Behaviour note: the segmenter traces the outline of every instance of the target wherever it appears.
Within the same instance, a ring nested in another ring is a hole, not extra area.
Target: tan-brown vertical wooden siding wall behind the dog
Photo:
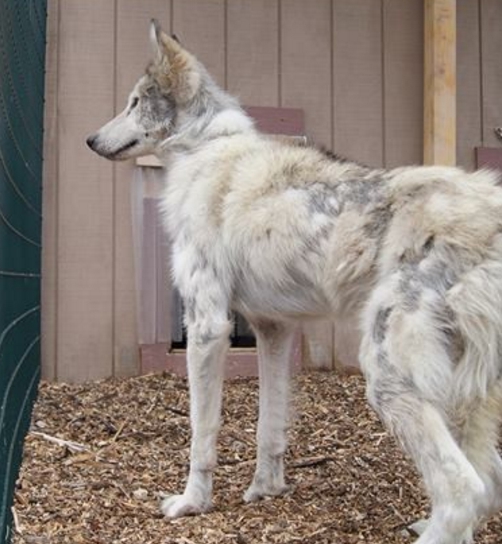
[[[489,70],[485,63],[502,50],[501,7],[499,0],[459,0],[459,39],[466,39],[459,51],[459,157],[467,165],[500,113],[493,111],[500,63]],[[370,165],[422,160],[422,0],[100,0],[92,6],[49,0],[42,348],[48,379],[82,381],[138,368],[134,165],[100,159],[86,149],[85,137],[122,109],[142,73],[151,17],[242,103],[301,108],[309,136]],[[354,362],[354,327],[309,325],[311,362],[331,367],[335,346],[337,358]]]

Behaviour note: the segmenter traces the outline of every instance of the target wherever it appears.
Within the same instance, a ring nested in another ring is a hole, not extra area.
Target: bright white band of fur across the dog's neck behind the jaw
[[[218,138],[254,133],[253,120],[241,109],[225,109],[203,125],[199,120],[181,125],[181,129],[159,146],[159,158],[171,152],[189,152]]]

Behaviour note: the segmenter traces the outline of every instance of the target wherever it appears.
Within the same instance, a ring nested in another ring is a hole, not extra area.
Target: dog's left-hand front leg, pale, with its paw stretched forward
[[[190,387],[192,444],[190,472],[182,495],[162,503],[170,518],[197,514],[211,507],[212,472],[216,465],[216,439],[220,426],[225,354],[231,330],[226,309],[197,312],[187,317],[187,366]]]

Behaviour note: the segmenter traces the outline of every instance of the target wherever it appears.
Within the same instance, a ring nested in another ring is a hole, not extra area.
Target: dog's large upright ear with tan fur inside
[[[195,57],[184,49],[178,38],[168,36],[156,19],[150,25],[150,43],[154,62],[151,72],[164,88],[169,88],[184,102],[197,91],[200,74]]]

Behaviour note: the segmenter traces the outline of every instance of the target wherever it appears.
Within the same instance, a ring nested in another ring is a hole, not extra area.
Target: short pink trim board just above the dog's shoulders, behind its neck
[[[255,120],[258,130],[265,134],[286,136],[303,136],[305,134],[303,110],[265,106],[246,106],[244,109]]]

